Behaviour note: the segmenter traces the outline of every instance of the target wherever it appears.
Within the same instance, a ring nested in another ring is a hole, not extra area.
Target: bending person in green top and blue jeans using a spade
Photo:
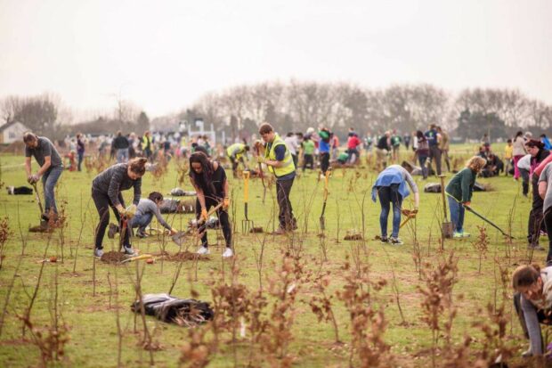
[[[451,221],[455,226],[453,238],[466,238],[469,233],[464,231],[464,215],[469,206],[474,192],[475,178],[481,172],[487,160],[479,156],[474,156],[467,160],[466,168],[461,169],[451,181],[447,184],[445,192],[448,196],[449,210],[451,211]]]

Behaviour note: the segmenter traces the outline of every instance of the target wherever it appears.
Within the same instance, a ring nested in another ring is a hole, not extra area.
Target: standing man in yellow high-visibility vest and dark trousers
[[[297,228],[296,218],[293,216],[289,192],[296,177],[296,166],[293,163],[291,152],[280,135],[274,132],[272,126],[264,123],[259,127],[259,134],[264,141],[264,154],[257,157],[259,163],[264,163],[269,171],[276,176],[276,198],[280,213],[280,227],[277,234],[283,234]],[[259,142],[259,144],[261,144]],[[262,152],[262,151],[261,151]]]

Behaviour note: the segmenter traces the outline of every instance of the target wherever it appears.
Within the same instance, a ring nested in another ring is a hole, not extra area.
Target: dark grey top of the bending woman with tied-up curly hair
[[[127,169],[128,164],[116,164],[106,168],[94,177],[92,190],[107,194],[113,206],[117,206],[120,203],[120,198],[122,198],[119,193],[134,186],[133,203],[137,206],[142,196],[142,178],[131,179],[128,176]],[[124,205],[124,203],[121,203],[121,205]]]

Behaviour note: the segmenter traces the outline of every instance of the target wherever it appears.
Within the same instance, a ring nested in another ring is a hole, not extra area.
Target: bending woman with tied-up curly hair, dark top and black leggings
[[[131,159],[127,163],[121,163],[106,168],[98,176],[94,177],[92,182],[92,199],[98,210],[100,222],[96,227],[96,238],[94,247],[94,256],[103,255],[103,236],[105,229],[110,223],[110,208],[113,210],[118,220],[118,226],[123,228],[123,221],[126,220],[127,211],[125,209],[125,200],[121,191],[134,188],[134,207],[140,202],[142,196],[142,176],[146,172],[146,162],[148,159]],[[129,211],[133,213],[134,209]],[[134,255],[134,249],[130,243],[129,231],[123,232],[123,249],[126,254]]]

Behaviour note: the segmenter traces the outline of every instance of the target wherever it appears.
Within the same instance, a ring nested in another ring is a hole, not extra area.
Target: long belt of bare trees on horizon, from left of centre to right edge
[[[516,130],[547,131],[552,109],[518,90],[474,88],[452,94],[428,85],[394,85],[384,89],[348,83],[264,82],[205,94],[178,119],[201,117],[232,133],[254,133],[263,121],[280,133],[324,125],[339,135],[348,127],[361,134],[397,129],[402,133],[429,124],[454,131],[463,139],[507,137]]]

